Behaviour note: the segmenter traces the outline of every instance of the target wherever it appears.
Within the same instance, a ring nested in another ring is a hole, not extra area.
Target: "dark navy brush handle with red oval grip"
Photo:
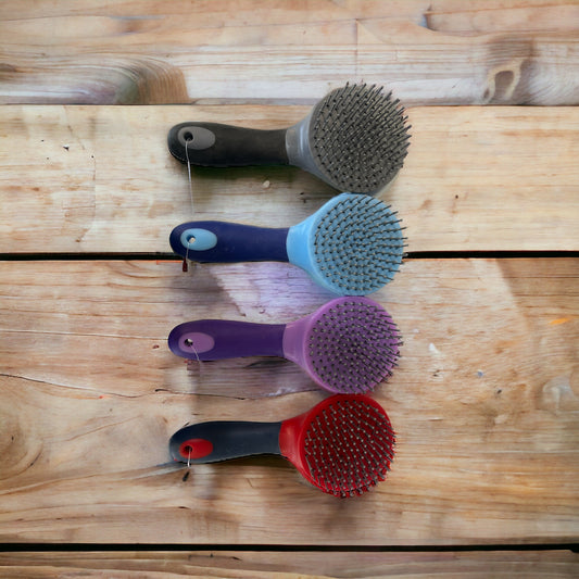
[[[215,420],[186,426],[173,437],[169,451],[181,463],[228,461],[255,454],[280,454],[281,423]]]

